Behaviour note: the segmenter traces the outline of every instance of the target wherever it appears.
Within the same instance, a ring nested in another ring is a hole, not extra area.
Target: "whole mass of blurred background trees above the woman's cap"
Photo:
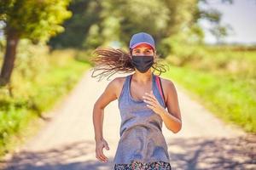
[[[133,33],[148,31],[158,44],[191,26],[196,1],[106,0],[73,1],[73,17],[64,24],[66,31],[50,40],[55,47],[96,48],[119,41],[127,44]]]

